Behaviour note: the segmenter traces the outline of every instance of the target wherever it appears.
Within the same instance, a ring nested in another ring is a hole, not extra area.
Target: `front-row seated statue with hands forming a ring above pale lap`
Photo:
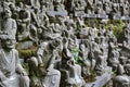
[[[81,87],[84,85],[84,80],[81,76],[80,65],[75,63],[75,60],[68,49],[64,48],[62,53],[62,65],[61,65],[61,86],[62,87],[72,87],[78,86]]]

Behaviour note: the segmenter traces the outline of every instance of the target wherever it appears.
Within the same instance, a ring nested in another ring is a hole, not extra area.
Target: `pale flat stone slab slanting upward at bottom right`
[[[102,76],[96,76],[96,80],[93,83],[88,83],[86,87],[103,87],[106,85],[110,78],[112,78],[112,69],[107,67],[106,73],[104,73]]]

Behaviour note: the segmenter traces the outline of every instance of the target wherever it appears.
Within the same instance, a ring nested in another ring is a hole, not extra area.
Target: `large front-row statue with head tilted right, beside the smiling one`
[[[39,75],[41,87],[60,87],[61,73],[55,70],[55,62],[58,59],[56,50],[57,45],[57,40],[42,42],[41,47],[37,51],[37,58],[30,59],[31,64],[36,64],[35,66],[40,71]],[[34,59],[36,60],[34,61]],[[32,66],[31,64],[30,66]],[[30,70],[32,69],[30,67]],[[32,70],[32,72],[36,70]],[[35,86],[37,86],[37,83]]]

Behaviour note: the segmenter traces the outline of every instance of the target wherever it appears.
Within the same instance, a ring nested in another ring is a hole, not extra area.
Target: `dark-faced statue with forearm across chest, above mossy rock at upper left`
[[[30,12],[24,8],[20,11],[17,21],[17,40],[23,40],[29,36]]]

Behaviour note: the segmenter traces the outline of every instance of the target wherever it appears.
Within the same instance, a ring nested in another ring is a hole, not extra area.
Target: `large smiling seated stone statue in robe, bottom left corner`
[[[1,38],[0,87],[29,87],[27,73],[20,63],[13,37]]]

